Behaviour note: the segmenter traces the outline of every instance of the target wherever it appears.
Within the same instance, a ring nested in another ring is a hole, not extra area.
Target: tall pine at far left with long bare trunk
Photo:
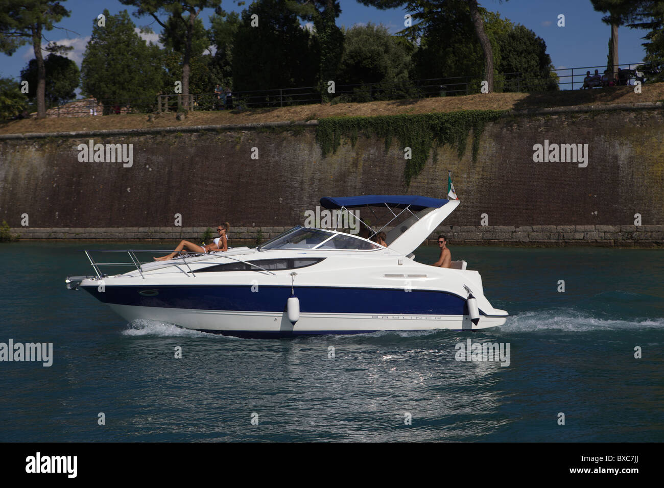
[[[0,51],[11,56],[32,42],[37,62],[37,116],[46,117],[46,68],[41,42],[44,31],[70,12],[52,0],[0,0]]]

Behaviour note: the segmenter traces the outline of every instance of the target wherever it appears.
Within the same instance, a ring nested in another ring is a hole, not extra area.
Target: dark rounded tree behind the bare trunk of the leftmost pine
[[[74,61],[51,53],[44,60],[44,68],[46,68],[46,88],[44,90],[46,108],[76,98],[74,90],[78,88],[80,82],[80,71]],[[31,100],[37,97],[38,78],[37,60],[31,59],[21,70],[21,79],[28,82],[28,98]]]

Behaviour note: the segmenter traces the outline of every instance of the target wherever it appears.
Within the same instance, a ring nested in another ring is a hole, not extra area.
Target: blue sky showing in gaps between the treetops
[[[556,68],[570,68],[582,66],[606,66],[608,40],[611,35],[610,26],[602,22],[602,13],[594,11],[590,0],[480,0],[483,7],[501,14],[513,23],[525,25],[535,31],[546,42],[546,50],[550,54]],[[68,29],[53,29],[46,32],[46,39],[58,41],[74,46],[70,57],[80,66],[80,60],[85,50],[86,42],[92,32],[92,20],[96,19],[104,9],[115,14],[127,9],[129,13],[135,11],[134,7],[126,7],[117,0],[67,0],[62,1],[66,9],[71,11],[71,17],[63,19],[58,27]],[[242,11],[235,2],[224,1],[222,8],[226,11]],[[382,23],[391,32],[399,31],[404,25],[404,9],[380,11],[373,7],[365,7],[355,0],[341,0],[341,16],[337,25],[351,27],[355,24],[372,22]],[[202,19],[208,27],[208,17],[212,10],[203,11]],[[565,16],[565,27],[558,27],[558,15]],[[132,20],[137,27],[151,25],[159,32],[159,25],[151,17],[136,18]],[[646,31],[621,27],[618,32],[619,61],[620,63],[637,63],[643,60],[645,52],[641,37]],[[156,35],[155,35],[156,37]],[[13,54],[6,56],[0,54],[0,75],[19,78],[21,68],[33,58],[32,46],[22,46]],[[602,70],[600,70],[601,72]],[[459,73],[461,75],[462,73]],[[566,74],[566,73],[559,73]],[[575,72],[576,79],[576,72]],[[576,88],[576,86],[575,86]]]

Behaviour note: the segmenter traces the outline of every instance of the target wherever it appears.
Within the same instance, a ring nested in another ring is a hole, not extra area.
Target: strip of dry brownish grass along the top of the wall
[[[288,122],[340,116],[429,114],[459,110],[532,110],[548,107],[633,104],[664,100],[664,83],[644,84],[642,90],[643,93],[635,94],[632,87],[620,86],[535,94],[493,93],[418,100],[389,100],[362,104],[314,104],[283,108],[258,108],[242,112],[238,110],[230,112],[191,112],[183,121],[176,120],[173,112],[160,114],[151,122],[148,121],[146,114],[26,119],[0,123],[0,134]]]

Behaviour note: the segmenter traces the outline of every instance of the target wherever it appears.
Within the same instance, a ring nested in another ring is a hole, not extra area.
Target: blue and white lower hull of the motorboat
[[[291,289],[237,285],[110,285],[84,289],[127,321],[148,319],[242,337],[359,334],[375,331],[476,330],[505,323],[481,313],[473,325],[463,297],[442,290],[299,287],[299,319],[288,319]]]

